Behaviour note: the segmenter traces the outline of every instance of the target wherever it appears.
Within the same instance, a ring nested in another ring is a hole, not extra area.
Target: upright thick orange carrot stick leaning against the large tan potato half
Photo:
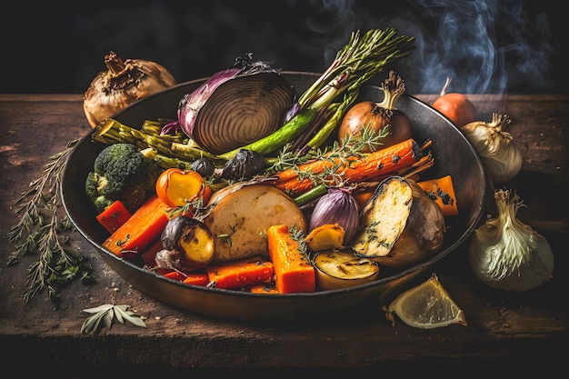
[[[300,251],[300,244],[285,224],[270,226],[266,231],[269,254],[275,265],[276,289],[281,294],[314,292],[314,267]]]

